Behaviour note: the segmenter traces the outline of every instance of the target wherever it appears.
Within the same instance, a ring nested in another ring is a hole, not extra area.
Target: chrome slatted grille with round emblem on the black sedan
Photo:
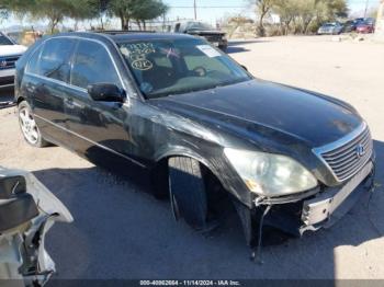
[[[370,129],[365,126],[362,133],[352,139],[337,145],[331,150],[319,153],[339,182],[348,180],[359,172],[370,160],[373,142]]]

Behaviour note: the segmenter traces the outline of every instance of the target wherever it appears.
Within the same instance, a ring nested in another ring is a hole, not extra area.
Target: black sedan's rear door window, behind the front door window
[[[37,74],[55,80],[68,82],[70,70],[70,57],[75,47],[75,41],[70,38],[54,38],[45,43]]]

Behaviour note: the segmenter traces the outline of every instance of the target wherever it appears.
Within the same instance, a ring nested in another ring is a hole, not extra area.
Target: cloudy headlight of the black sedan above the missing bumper
[[[229,148],[224,153],[248,188],[259,195],[286,195],[317,186],[314,175],[289,157]]]

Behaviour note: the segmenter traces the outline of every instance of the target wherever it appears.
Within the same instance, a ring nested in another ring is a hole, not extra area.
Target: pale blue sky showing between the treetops
[[[368,0],[369,7],[376,7],[379,0]],[[193,0],[163,0],[171,8],[167,18],[169,20],[193,19]],[[366,0],[348,0],[348,5],[353,16],[362,16],[365,9]],[[215,24],[217,20],[226,15],[241,14],[255,18],[253,11],[248,4],[248,0],[196,0],[197,19]],[[30,25],[27,21],[20,22],[18,19],[9,19],[0,23],[0,28],[12,25]],[[118,25],[117,21],[114,24]]]

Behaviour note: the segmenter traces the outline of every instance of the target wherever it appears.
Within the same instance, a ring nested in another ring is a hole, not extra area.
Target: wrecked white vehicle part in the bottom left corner
[[[0,180],[24,176],[26,193],[38,208],[38,216],[0,233],[0,279],[7,286],[43,286],[55,272],[55,263],[45,250],[45,234],[55,223],[72,222],[68,209],[32,173],[0,167]]]

